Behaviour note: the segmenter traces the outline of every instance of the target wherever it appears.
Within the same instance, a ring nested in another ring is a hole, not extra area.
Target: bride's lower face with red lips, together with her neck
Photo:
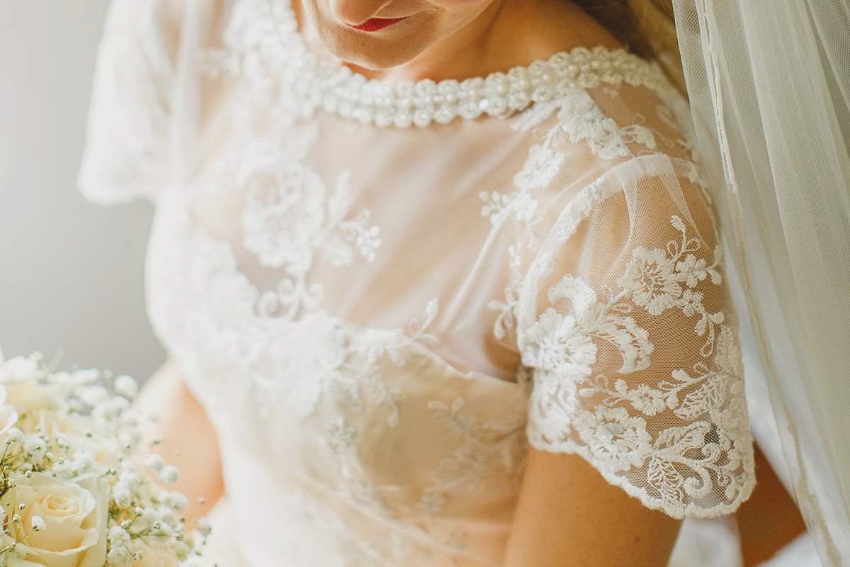
[[[620,46],[565,0],[303,0],[294,7],[314,53],[367,77],[464,79],[580,45]],[[380,31],[345,26],[403,16]]]

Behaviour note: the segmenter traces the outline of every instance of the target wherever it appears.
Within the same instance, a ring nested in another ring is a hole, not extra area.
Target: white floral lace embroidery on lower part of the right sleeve
[[[534,381],[529,436],[537,447],[586,456],[648,506],[679,518],[709,516],[734,509],[753,485],[743,367],[734,329],[694,289],[723,283],[719,249],[709,264],[682,219],[673,215],[671,224],[681,239],[666,250],[637,247],[607,301],[573,275],[549,288],[553,305],[568,299],[571,309],[546,309],[520,333]],[[552,273],[545,258],[539,264],[530,277]],[[694,333],[706,343],[692,368],[657,382],[629,377],[650,368],[655,351],[635,309],[651,317],[677,309],[697,319]],[[601,343],[621,354],[623,377],[595,370]]]

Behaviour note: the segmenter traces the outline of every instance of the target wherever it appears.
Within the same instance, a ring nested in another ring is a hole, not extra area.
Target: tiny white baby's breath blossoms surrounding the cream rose
[[[31,533],[49,534],[58,521],[20,500],[48,490],[45,483],[75,494],[94,490],[83,500],[105,508],[107,525],[98,534],[105,541],[104,567],[131,567],[146,553],[181,561],[199,553],[209,530],[187,525],[185,496],[168,489],[178,469],[156,454],[144,466],[137,458],[145,449],[130,406],[138,384],[110,371],[56,371],[56,365],[40,354],[0,356],[0,565],[8,557],[26,558]],[[94,495],[104,488],[108,496],[100,502]]]

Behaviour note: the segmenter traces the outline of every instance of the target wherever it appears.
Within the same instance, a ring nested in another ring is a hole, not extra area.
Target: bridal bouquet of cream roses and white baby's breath
[[[137,389],[0,354],[0,567],[177,567],[195,553],[186,498],[165,488],[178,470],[133,460]]]

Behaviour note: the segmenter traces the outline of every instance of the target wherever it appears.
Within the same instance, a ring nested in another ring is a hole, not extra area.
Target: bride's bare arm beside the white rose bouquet
[[[180,469],[179,482],[170,488],[189,498],[186,518],[203,516],[224,492],[218,439],[207,412],[186,388],[173,360],[145,384],[136,409],[142,416],[156,416],[150,434],[162,439],[156,452]]]

